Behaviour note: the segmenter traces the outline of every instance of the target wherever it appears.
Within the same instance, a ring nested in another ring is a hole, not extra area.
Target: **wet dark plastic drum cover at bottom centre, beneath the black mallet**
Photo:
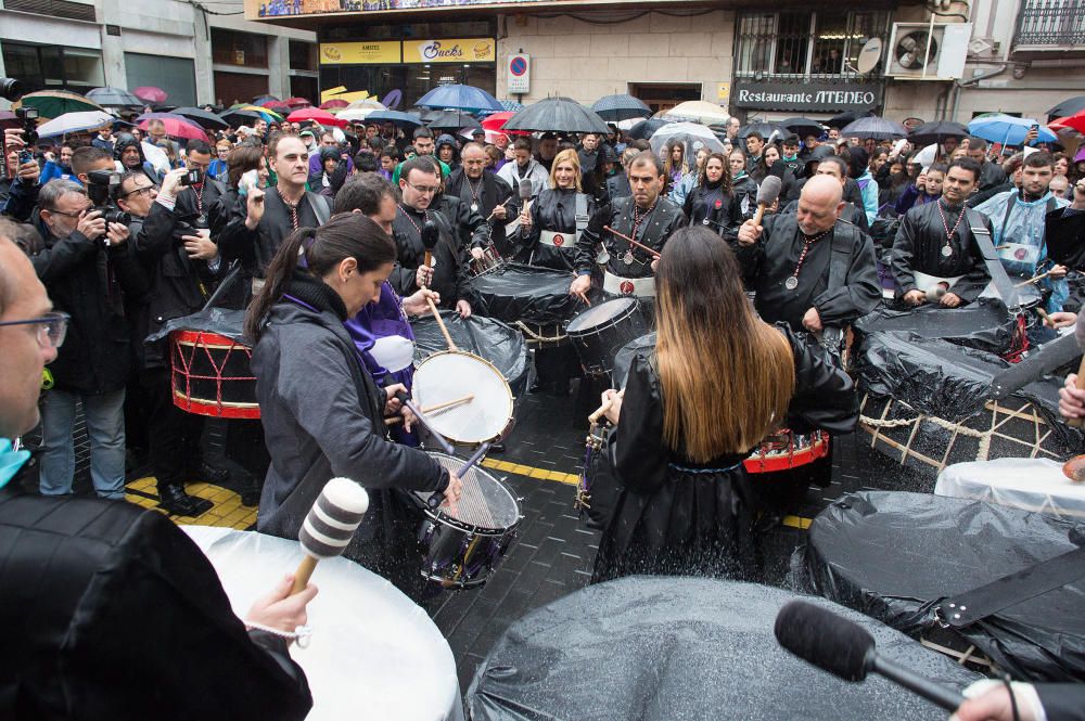
[[[701,578],[624,578],[536,609],[498,640],[468,691],[474,721],[894,719],[945,721],[871,674],[848,683],[781,648],[776,614],[796,596]],[[888,658],[954,688],[980,679],[889,627],[863,626]]]

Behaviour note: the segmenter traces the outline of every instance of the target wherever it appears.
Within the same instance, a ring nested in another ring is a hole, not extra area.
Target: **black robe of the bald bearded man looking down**
[[[795,216],[776,215],[764,220],[764,234],[751,246],[739,246],[746,288],[754,291],[754,307],[766,323],[786,322],[803,331],[803,316],[816,308],[822,325],[843,326],[881,302],[881,284],[870,237],[852,223],[838,220],[831,233],[810,245],[799,272],[799,287],[784,282],[794,274],[805,245]],[[839,254],[845,267],[843,282],[829,286],[830,256]]]

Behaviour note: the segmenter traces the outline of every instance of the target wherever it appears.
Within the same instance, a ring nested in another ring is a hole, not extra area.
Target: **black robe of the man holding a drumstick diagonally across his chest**
[[[610,205],[604,205],[591,216],[588,227],[580,233],[580,240],[576,242],[574,262],[577,273],[587,272],[595,268],[596,245],[602,243],[610,255],[607,270],[614,275],[620,278],[651,278],[653,275],[652,256],[630,245],[628,241],[603,230],[603,227],[609,226],[641,245],[660,252],[671,234],[686,226],[686,216],[682,215],[681,208],[674,201],[660,195],[655,207],[648,213],[637,229],[637,234],[634,235],[633,220],[636,207],[637,203],[631,196],[623,197]],[[626,253],[633,254],[633,262],[629,265],[624,262]]]

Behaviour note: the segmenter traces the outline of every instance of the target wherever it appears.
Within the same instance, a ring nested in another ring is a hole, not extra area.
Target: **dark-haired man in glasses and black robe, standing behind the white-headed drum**
[[[460,318],[470,317],[467,263],[460,252],[459,235],[451,222],[431,207],[441,192],[441,178],[429,157],[414,157],[403,164],[399,192],[403,199],[392,222],[399,265],[390,278],[392,286],[401,296],[429,287],[441,295],[442,307],[456,308]],[[432,252],[431,268],[426,268],[422,245],[422,229],[426,223],[436,224],[441,236]]]

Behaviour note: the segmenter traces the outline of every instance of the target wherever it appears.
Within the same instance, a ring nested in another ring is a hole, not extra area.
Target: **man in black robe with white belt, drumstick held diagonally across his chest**
[[[641,152],[629,162],[628,176],[633,196],[613,201],[596,211],[576,242],[576,279],[569,292],[585,302],[591,289],[598,244],[602,244],[607,257],[601,263],[603,291],[612,295],[655,296],[653,256],[604,227],[661,252],[672,233],[686,226],[681,208],[661,195],[665,175],[659,156],[650,151]]]

